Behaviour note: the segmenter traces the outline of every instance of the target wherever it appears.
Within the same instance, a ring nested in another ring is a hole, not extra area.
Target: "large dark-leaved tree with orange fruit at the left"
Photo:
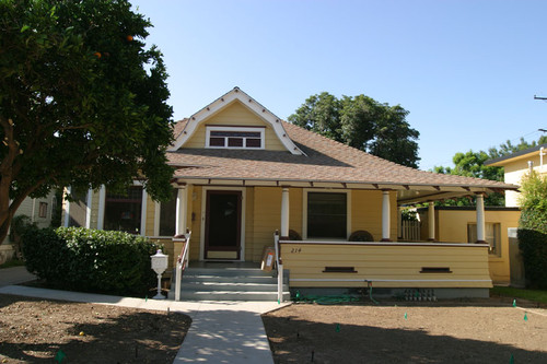
[[[170,196],[172,108],[126,0],[0,0],[0,242],[21,202],[136,176]]]

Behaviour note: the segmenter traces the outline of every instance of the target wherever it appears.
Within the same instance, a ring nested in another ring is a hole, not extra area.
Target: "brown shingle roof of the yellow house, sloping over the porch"
[[[175,126],[175,136],[187,120]],[[472,177],[434,174],[380,158],[283,121],[289,138],[306,155],[284,151],[179,149],[168,152],[186,179],[278,180],[399,186],[480,187],[516,189],[514,185]]]

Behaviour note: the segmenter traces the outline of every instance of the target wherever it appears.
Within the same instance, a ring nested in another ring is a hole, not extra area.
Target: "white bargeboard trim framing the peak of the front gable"
[[[186,141],[191,138],[200,124],[236,101],[241,102],[248,109],[258,115],[266,124],[268,124],[274,129],[275,133],[279,138],[280,142],[284,145],[287,151],[295,155],[303,154],[303,152],[292,142],[292,140],[287,137],[287,132],[283,129],[281,119],[274,115],[274,113],[268,110],[266,107],[260,105],[258,102],[256,102],[256,99],[240,90],[240,87],[234,87],[233,90],[229,91],[221,97],[217,98],[216,101],[190,116],[188,119],[185,119],[185,125],[181,126],[179,128],[175,127],[175,142],[170,151],[176,151],[182,148],[186,143]]]

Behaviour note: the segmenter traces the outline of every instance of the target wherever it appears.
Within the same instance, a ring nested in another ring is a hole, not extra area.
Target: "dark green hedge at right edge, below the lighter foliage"
[[[547,234],[529,228],[519,228],[517,234],[527,284],[547,289]]]

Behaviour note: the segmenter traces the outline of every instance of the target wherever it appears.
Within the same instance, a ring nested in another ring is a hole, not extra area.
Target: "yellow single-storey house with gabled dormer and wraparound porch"
[[[150,236],[172,258],[179,248],[171,237],[189,228],[194,261],[259,262],[279,231],[293,289],[369,281],[386,290],[485,296],[492,286],[488,244],[397,243],[397,208],[475,195],[476,240],[485,243],[484,195],[516,186],[382,160],[288,124],[237,87],[177,122],[174,133],[171,202],[152,202],[137,181],[128,196],[102,188],[66,203],[65,224]],[[302,240],[290,240],[290,231]],[[357,231],[373,242],[348,242]]]

